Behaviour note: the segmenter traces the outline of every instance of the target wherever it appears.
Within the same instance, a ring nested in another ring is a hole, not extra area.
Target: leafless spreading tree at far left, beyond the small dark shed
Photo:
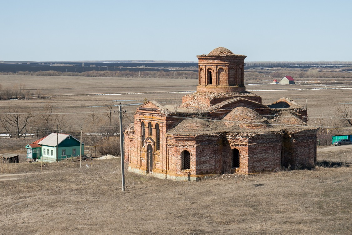
[[[20,113],[18,108],[9,108],[7,113],[0,116],[0,126],[4,128],[10,138],[25,136],[32,129],[32,115]]]

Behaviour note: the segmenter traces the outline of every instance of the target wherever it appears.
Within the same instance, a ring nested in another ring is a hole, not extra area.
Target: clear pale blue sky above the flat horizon
[[[352,1],[0,2],[0,60],[351,61]]]

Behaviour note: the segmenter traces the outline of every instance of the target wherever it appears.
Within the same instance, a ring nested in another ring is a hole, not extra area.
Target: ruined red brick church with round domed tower
[[[125,130],[128,170],[174,180],[313,167],[317,129],[307,109],[246,92],[244,60],[226,48],[197,56],[197,91],[181,105],[148,101]]]

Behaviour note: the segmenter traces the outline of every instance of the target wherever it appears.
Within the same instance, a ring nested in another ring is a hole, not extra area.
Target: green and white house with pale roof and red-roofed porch
[[[58,157],[57,160],[61,161],[71,156],[80,155],[80,141],[75,137],[67,134],[51,133],[40,140],[34,141],[33,144],[40,146],[40,160],[46,162],[56,161],[56,148]],[[30,145],[27,145],[30,146]],[[26,148],[27,148],[26,146]],[[27,157],[28,157],[27,148]],[[38,150],[36,150],[37,152]],[[82,143],[82,155],[84,153],[84,144]],[[32,153],[33,154],[33,153]]]

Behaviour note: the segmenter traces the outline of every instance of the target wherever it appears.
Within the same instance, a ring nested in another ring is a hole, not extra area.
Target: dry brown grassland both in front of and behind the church
[[[0,82],[24,83],[33,92],[40,87],[48,97],[0,101],[0,112],[13,106],[40,112],[51,102],[58,112],[74,113],[67,115],[72,125],[84,125],[87,113],[105,111],[99,106],[106,101],[176,102],[187,93],[171,92],[195,91],[198,81],[0,76]],[[247,83],[264,104],[290,97],[305,105],[308,98],[311,117],[333,115],[336,107],[352,103],[348,82]],[[137,105],[125,107],[132,113]],[[11,169],[21,175],[0,175],[0,234],[352,234],[352,149],[345,146],[319,147],[318,167],[310,171],[181,183],[126,172],[122,192],[119,159],[41,168],[24,162],[30,141],[0,140],[0,153],[19,152],[22,159]]]

